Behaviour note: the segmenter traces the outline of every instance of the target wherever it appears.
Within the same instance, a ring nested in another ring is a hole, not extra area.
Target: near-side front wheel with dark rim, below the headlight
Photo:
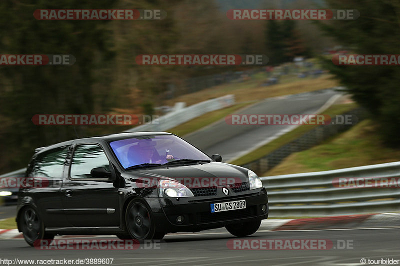
[[[162,232],[156,231],[150,208],[140,200],[133,200],[128,204],[125,212],[125,224],[130,239],[139,241],[160,240],[165,235]]]

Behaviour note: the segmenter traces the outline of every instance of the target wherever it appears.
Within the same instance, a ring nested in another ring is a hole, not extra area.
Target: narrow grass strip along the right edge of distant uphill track
[[[329,107],[328,109],[323,111],[323,114],[334,116],[334,115],[342,114],[342,113],[349,111],[355,107],[356,107],[356,105],[354,103],[336,104],[336,105],[332,105],[331,107]],[[246,155],[243,155],[242,157],[237,158],[236,160],[229,162],[229,163],[235,164],[235,165],[243,165],[243,164],[252,162],[254,160],[257,160],[257,159],[267,155],[268,153],[272,152],[273,150],[283,146],[284,144],[295,140],[296,138],[300,137],[302,134],[311,130],[315,126],[316,125],[298,126],[295,129],[287,132],[286,134],[278,137],[277,139],[259,147],[258,149],[254,150]]]

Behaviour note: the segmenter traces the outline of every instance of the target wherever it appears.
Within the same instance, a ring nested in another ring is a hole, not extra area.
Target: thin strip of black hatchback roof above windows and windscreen
[[[55,143],[46,147],[40,147],[37,148],[35,151],[35,154],[39,154],[42,152],[46,152],[48,150],[52,150],[58,147],[62,146],[67,146],[71,145],[71,143],[75,140],[86,140],[88,142],[90,141],[112,141],[112,140],[120,140],[120,139],[127,139],[127,138],[134,138],[134,137],[141,137],[141,136],[148,136],[148,135],[173,135],[172,133],[169,132],[158,132],[158,131],[140,131],[140,132],[122,132],[122,133],[116,133],[116,134],[107,134],[107,135],[101,135],[101,136],[92,136],[92,137],[85,137],[85,138],[78,138],[78,139],[72,139],[68,141],[63,141],[59,143]]]

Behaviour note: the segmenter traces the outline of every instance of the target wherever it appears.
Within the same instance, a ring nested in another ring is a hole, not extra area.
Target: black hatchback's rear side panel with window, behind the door
[[[35,185],[21,189],[34,199],[46,227],[67,226],[62,210],[60,188],[66,169],[66,156],[70,145],[61,146],[37,154],[29,164],[27,177],[35,180]]]

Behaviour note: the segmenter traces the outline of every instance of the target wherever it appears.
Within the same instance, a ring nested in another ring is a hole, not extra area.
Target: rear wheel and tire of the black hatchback
[[[44,223],[33,207],[29,206],[22,209],[18,224],[22,231],[23,239],[31,247],[40,245],[39,240],[51,241],[54,239],[54,235],[44,232]]]

